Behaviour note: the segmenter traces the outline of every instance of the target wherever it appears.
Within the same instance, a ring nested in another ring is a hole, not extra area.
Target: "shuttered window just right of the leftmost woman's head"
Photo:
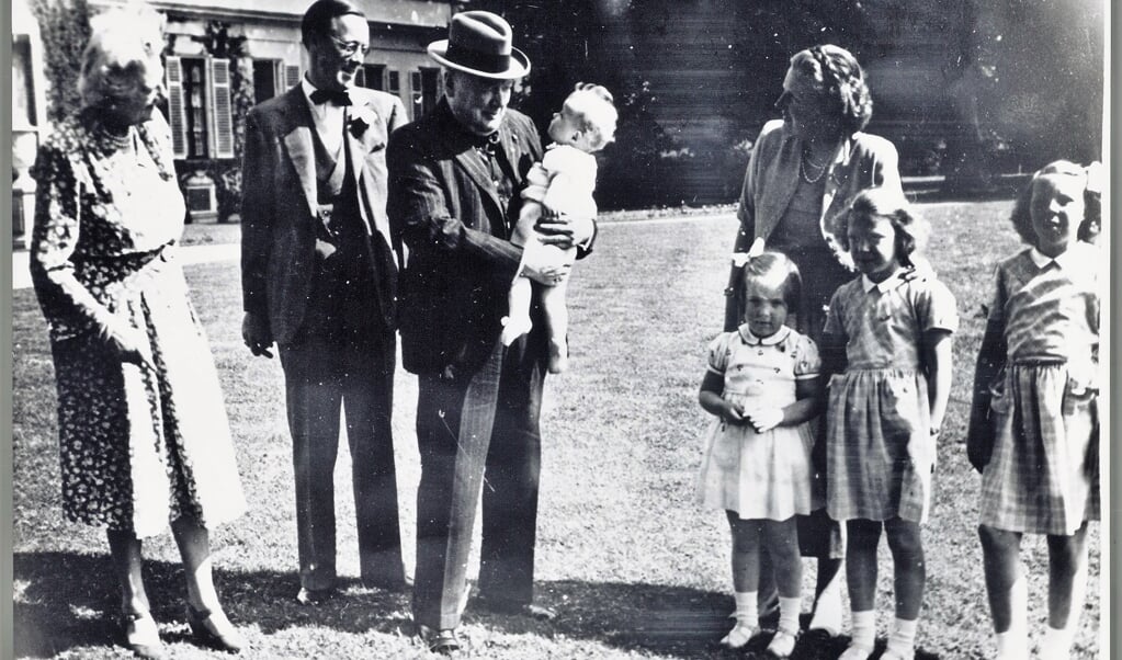
[[[165,68],[175,157],[232,158],[230,62],[168,56]]]

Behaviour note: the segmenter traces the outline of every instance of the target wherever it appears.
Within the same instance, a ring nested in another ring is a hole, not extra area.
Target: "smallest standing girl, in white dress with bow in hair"
[[[807,428],[820,409],[820,359],[810,338],[784,324],[801,288],[793,262],[764,253],[744,266],[744,323],[709,345],[698,395],[718,418],[709,429],[698,501],[724,508],[733,531],[736,624],[721,644],[739,649],[758,632],[760,549],[766,546],[780,596],[779,630],[767,651],[787,658],[799,634],[802,586],[794,515],[821,507],[812,502]]]

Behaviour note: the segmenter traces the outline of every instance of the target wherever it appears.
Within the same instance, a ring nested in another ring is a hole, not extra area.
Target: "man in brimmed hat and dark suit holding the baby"
[[[413,616],[433,651],[451,652],[480,489],[479,604],[552,616],[533,605],[544,324],[537,319],[509,347],[500,333],[514,278],[550,283],[565,266],[551,264],[549,250],[511,242],[518,193],[542,158],[534,125],[507,108],[514,81],[530,71],[511,26],[487,11],[457,13],[429,54],[444,66],[444,94],[389,140],[387,211],[408,248],[402,358],[419,376]],[[583,253],[595,233],[591,218],[555,214],[539,229]]]

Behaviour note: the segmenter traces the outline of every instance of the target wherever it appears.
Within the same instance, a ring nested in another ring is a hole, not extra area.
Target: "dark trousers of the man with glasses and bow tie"
[[[280,347],[296,478],[300,581],[325,589],[335,580],[334,466],[340,405],[351,455],[362,580],[404,585],[397,479],[390,428],[393,351],[377,324],[371,283],[338,269],[337,254],[318,268],[296,339]],[[390,336],[392,337],[392,336]],[[389,363],[392,364],[392,363]]]

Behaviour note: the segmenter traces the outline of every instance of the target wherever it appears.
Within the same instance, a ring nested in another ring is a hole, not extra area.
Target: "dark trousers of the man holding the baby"
[[[539,343],[527,350],[523,338],[504,349],[496,340],[473,374],[420,376],[416,623],[460,623],[480,489],[480,595],[508,604],[533,599],[544,378]]]

